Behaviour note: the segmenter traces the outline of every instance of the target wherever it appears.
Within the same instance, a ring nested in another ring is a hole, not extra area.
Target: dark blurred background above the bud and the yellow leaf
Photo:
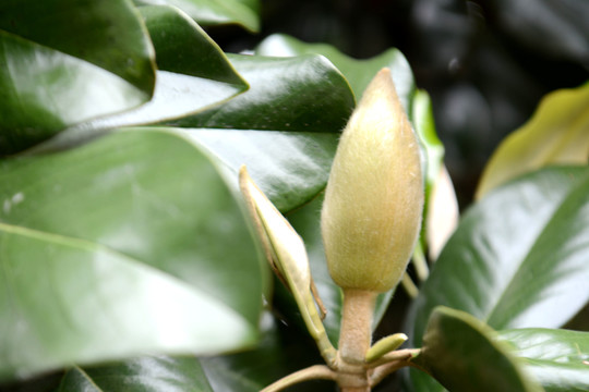
[[[227,51],[273,33],[364,59],[396,47],[430,93],[461,207],[497,144],[546,93],[589,78],[587,0],[262,0],[262,32],[213,30]]]

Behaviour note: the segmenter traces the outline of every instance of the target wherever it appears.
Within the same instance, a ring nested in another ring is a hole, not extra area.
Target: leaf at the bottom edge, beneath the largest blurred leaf
[[[124,387],[123,387],[124,385]],[[213,392],[195,357],[153,356],[100,367],[73,367],[56,392]]]

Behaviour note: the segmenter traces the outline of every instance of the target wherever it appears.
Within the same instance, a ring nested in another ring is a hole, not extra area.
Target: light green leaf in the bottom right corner
[[[582,392],[589,385],[589,332],[516,329],[500,331],[512,354],[546,392]]]

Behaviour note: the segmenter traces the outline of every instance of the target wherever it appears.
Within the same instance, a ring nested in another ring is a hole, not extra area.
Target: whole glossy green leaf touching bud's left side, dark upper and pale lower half
[[[341,74],[317,56],[230,59],[250,89],[169,124],[187,127],[187,136],[218,156],[236,179],[247,164],[274,205],[291,210],[325,186],[353,96]]]

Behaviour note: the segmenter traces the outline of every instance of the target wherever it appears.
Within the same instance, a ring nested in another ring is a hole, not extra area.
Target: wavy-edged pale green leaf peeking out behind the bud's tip
[[[369,60],[357,60],[341,53],[326,44],[306,44],[293,37],[275,34],[264,39],[255,50],[261,56],[296,57],[301,54],[322,54],[341,71],[359,99],[370,81],[383,68],[389,68],[397,95],[408,113],[412,112],[411,98],[416,85],[409,63],[397,49],[389,49]]]

